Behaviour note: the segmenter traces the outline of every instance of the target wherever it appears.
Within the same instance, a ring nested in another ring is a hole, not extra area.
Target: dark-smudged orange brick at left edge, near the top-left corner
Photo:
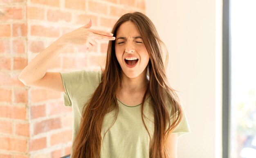
[[[23,17],[22,8],[4,8],[2,9],[2,14],[0,15],[0,21],[7,20],[20,20]]]

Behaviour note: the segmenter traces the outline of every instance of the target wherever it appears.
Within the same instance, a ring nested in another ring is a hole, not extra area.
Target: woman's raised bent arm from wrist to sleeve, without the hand
[[[40,52],[31,62],[22,70],[19,80],[25,85],[46,88],[52,87],[53,90],[65,91],[62,85],[61,76],[56,73],[47,73],[50,65],[54,63],[58,55],[65,49],[61,38],[52,43],[45,50]],[[48,85],[46,85],[48,84]]]

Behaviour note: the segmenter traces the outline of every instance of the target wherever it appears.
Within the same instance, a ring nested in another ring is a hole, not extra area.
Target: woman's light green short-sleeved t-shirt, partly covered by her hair
[[[61,73],[65,88],[65,106],[71,106],[73,111],[73,140],[79,130],[81,115],[85,103],[90,99],[101,81],[101,71],[74,71]],[[151,138],[154,132],[154,115],[150,97],[144,103],[144,122]],[[118,100],[119,113],[117,120],[106,133],[113,122],[115,111],[106,114],[103,120],[101,138],[101,158],[148,158],[150,137],[141,119],[141,104],[127,106]],[[169,109],[170,110],[170,109]],[[186,115],[173,133],[180,137],[190,132]]]

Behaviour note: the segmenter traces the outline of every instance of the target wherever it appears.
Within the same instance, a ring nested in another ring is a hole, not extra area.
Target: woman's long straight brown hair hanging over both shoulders
[[[154,134],[150,138],[149,155],[150,158],[166,158],[168,155],[166,138],[181,121],[182,108],[175,90],[168,85],[162,57],[162,48],[165,46],[160,40],[154,24],[140,12],[126,13],[121,16],[112,29],[114,36],[116,36],[119,26],[126,21],[134,22],[137,26],[150,56],[147,72],[149,82],[141,104],[141,116],[144,122],[143,105],[148,93],[151,98],[150,105],[152,105],[154,111],[155,121]],[[115,41],[112,42],[110,40],[101,82],[83,110],[80,129],[72,147],[72,156],[74,158],[100,157],[103,118],[106,113],[112,110],[115,110],[115,119],[117,118],[118,104],[116,94],[120,86],[121,67],[115,56]],[[168,110],[170,106],[171,111]],[[171,121],[170,118],[172,118]],[[145,122],[144,126],[146,127]]]

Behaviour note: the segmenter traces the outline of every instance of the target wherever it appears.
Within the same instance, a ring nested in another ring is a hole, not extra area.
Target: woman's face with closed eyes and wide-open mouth
[[[124,75],[128,78],[146,75],[149,55],[133,22],[124,22],[117,29],[115,51]]]

